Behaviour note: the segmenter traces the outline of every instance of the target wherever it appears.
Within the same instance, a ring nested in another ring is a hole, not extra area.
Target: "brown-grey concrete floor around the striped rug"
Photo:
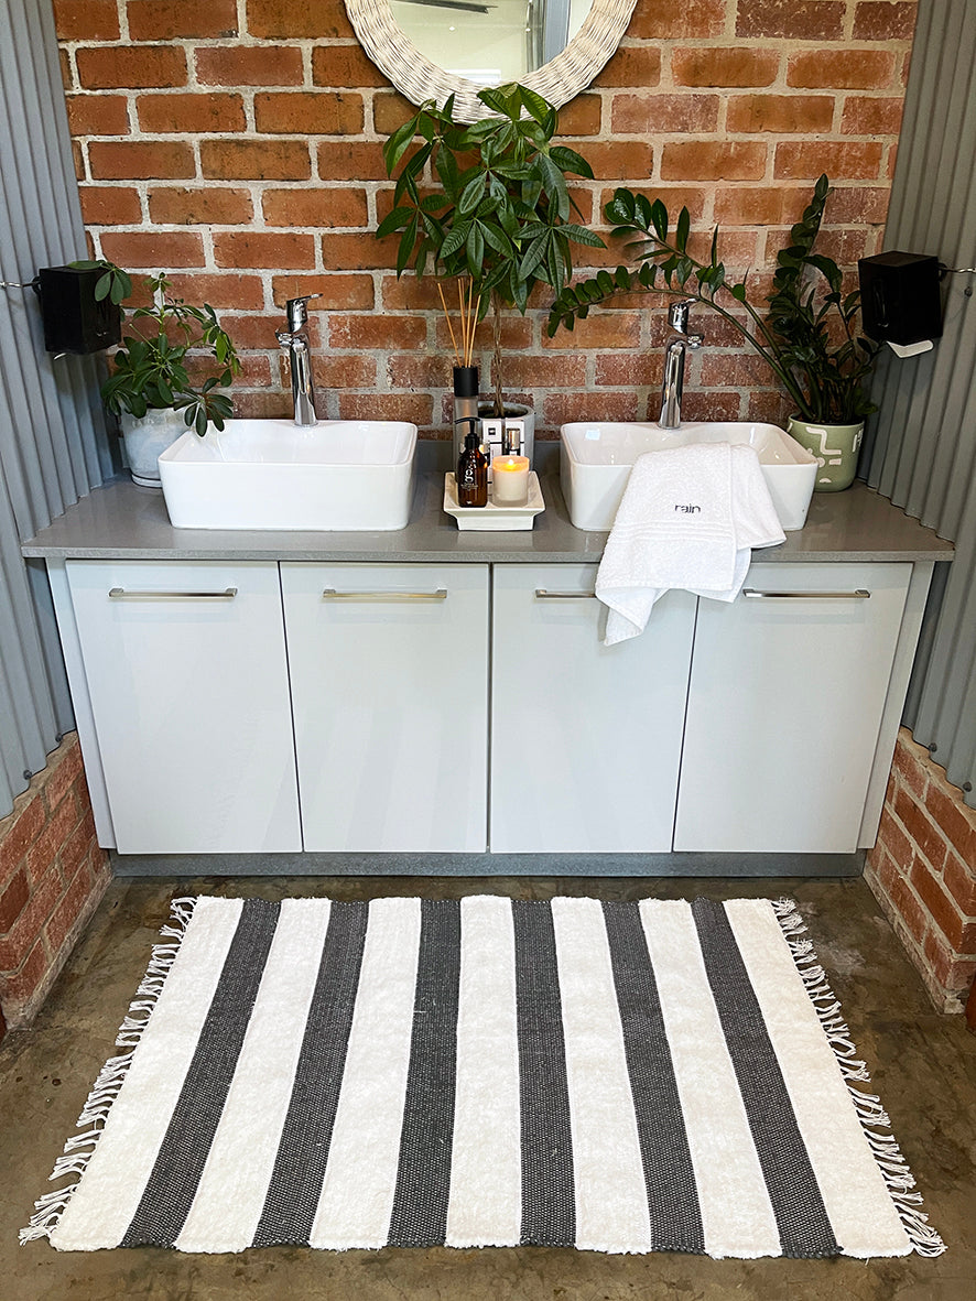
[[[949,1244],[937,1259],[712,1261],[600,1255],[539,1248],[328,1253],[268,1248],[181,1255],[151,1248],[57,1253],[17,1245],[33,1201],[74,1129],[87,1090],[176,895],[553,894],[799,900],[854,1041],[891,1115],[902,1150]],[[561,878],[249,878],[116,881],[30,1030],[0,1046],[1,1301],[972,1301],[976,1297],[976,1036],[933,1011],[921,981],[861,881]]]

